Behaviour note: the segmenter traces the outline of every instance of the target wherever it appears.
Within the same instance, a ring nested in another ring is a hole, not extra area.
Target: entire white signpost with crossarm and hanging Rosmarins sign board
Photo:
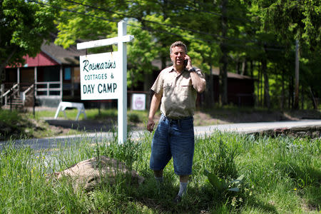
[[[118,22],[118,37],[77,44],[77,49],[90,49],[118,44],[113,53],[80,57],[81,99],[118,99],[118,143],[127,138],[127,49],[126,42],[133,36],[126,35],[125,21]]]

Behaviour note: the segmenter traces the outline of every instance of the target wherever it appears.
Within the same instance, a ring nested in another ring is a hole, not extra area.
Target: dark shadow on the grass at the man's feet
[[[238,213],[243,205],[266,213],[277,213],[273,205],[262,203],[254,196],[245,198],[244,203],[235,208],[230,205],[230,198],[215,195],[210,185],[188,187],[188,193],[176,204],[173,203],[173,198],[178,189],[178,184],[173,184],[170,178],[165,178],[164,182],[159,184],[151,175],[142,185],[136,187],[136,190],[123,188],[122,194],[131,198],[132,203],[146,207],[153,213]]]

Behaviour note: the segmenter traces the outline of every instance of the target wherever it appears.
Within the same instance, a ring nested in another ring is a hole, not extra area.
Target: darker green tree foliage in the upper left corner
[[[7,65],[36,56],[54,29],[54,9],[24,0],[0,0],[0,76]]]

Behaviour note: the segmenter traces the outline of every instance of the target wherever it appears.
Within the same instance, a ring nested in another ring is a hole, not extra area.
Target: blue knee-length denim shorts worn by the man
[[[159,120],[151,145],[150,168],[163,170],[173,157],[177,175],[192,173],[194,156],[193,116],[179,120],[166,118]]]

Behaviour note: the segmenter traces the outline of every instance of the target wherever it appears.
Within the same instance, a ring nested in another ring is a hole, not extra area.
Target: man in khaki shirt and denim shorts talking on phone
[[[153,131],[154,116],[161,104],[161,118],[151,144],[150,168],[161,183],[163,169],[173,157],[175,174],[180,177],[180,190],[174,202],[179,203],[192,173],[196,97],[205,90],[206,82],[200,69],[193,68],[183,42],[175,41],[170,46],[170,59],[173,66],[163,69],[151,87],[154,95],[147,130]]]

